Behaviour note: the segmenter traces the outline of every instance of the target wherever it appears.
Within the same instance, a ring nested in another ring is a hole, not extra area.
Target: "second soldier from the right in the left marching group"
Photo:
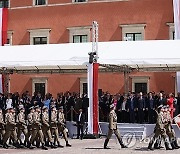
[[[56,107],[52,106],[51,107],[51,121],[50,121],[50,126],[51,126],[51,134],[55,136],[55,142],[57,141],[58,147],[63,148],[63,146],[60,144],[60,139],[59,139],[59,133],[58,133],[58,127],[57,127],[57,111]]]

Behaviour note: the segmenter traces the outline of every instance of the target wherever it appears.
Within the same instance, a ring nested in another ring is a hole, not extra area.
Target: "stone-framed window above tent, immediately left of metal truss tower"
[[[69,42],[70,43],[82,43],[90,42],[90,29],[92,26],[85,27],[70,27],[69,30]]]

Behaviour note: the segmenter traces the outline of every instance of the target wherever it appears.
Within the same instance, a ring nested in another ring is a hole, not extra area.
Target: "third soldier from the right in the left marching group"
[[[48,107],[43,107],[42,112],[42,131],[44,133],[45,139],[48,138],[48,144],[50,142],[51,148],[57,148],[55,145],[53,145],[53,139],[50,131],[50,125],[49,125],[49,113],[48,113]],[[46,141],[46,140],[45,140]]]

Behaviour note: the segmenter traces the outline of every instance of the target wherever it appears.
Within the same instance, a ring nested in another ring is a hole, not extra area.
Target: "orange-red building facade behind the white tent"
[[[174,39],[172,0],[2,0],[0,6],[9,8],[10,45],[90,42],[94,20],[99,24],[101,42]],[[176,92],[175,77],[176,72],[132,72],[128,88],[136,92]],[[14,73],[9,82],[10,92],[44,91],[56,96],[65,91],[86,92],[87,74]],[[100,73],[99,89],[123,93],[124,74]]]

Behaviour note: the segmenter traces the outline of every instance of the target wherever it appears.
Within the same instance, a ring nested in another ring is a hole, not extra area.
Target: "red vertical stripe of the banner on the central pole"
[[[98,68],[99,64],[93,64],[93,134],[98,135]]]

